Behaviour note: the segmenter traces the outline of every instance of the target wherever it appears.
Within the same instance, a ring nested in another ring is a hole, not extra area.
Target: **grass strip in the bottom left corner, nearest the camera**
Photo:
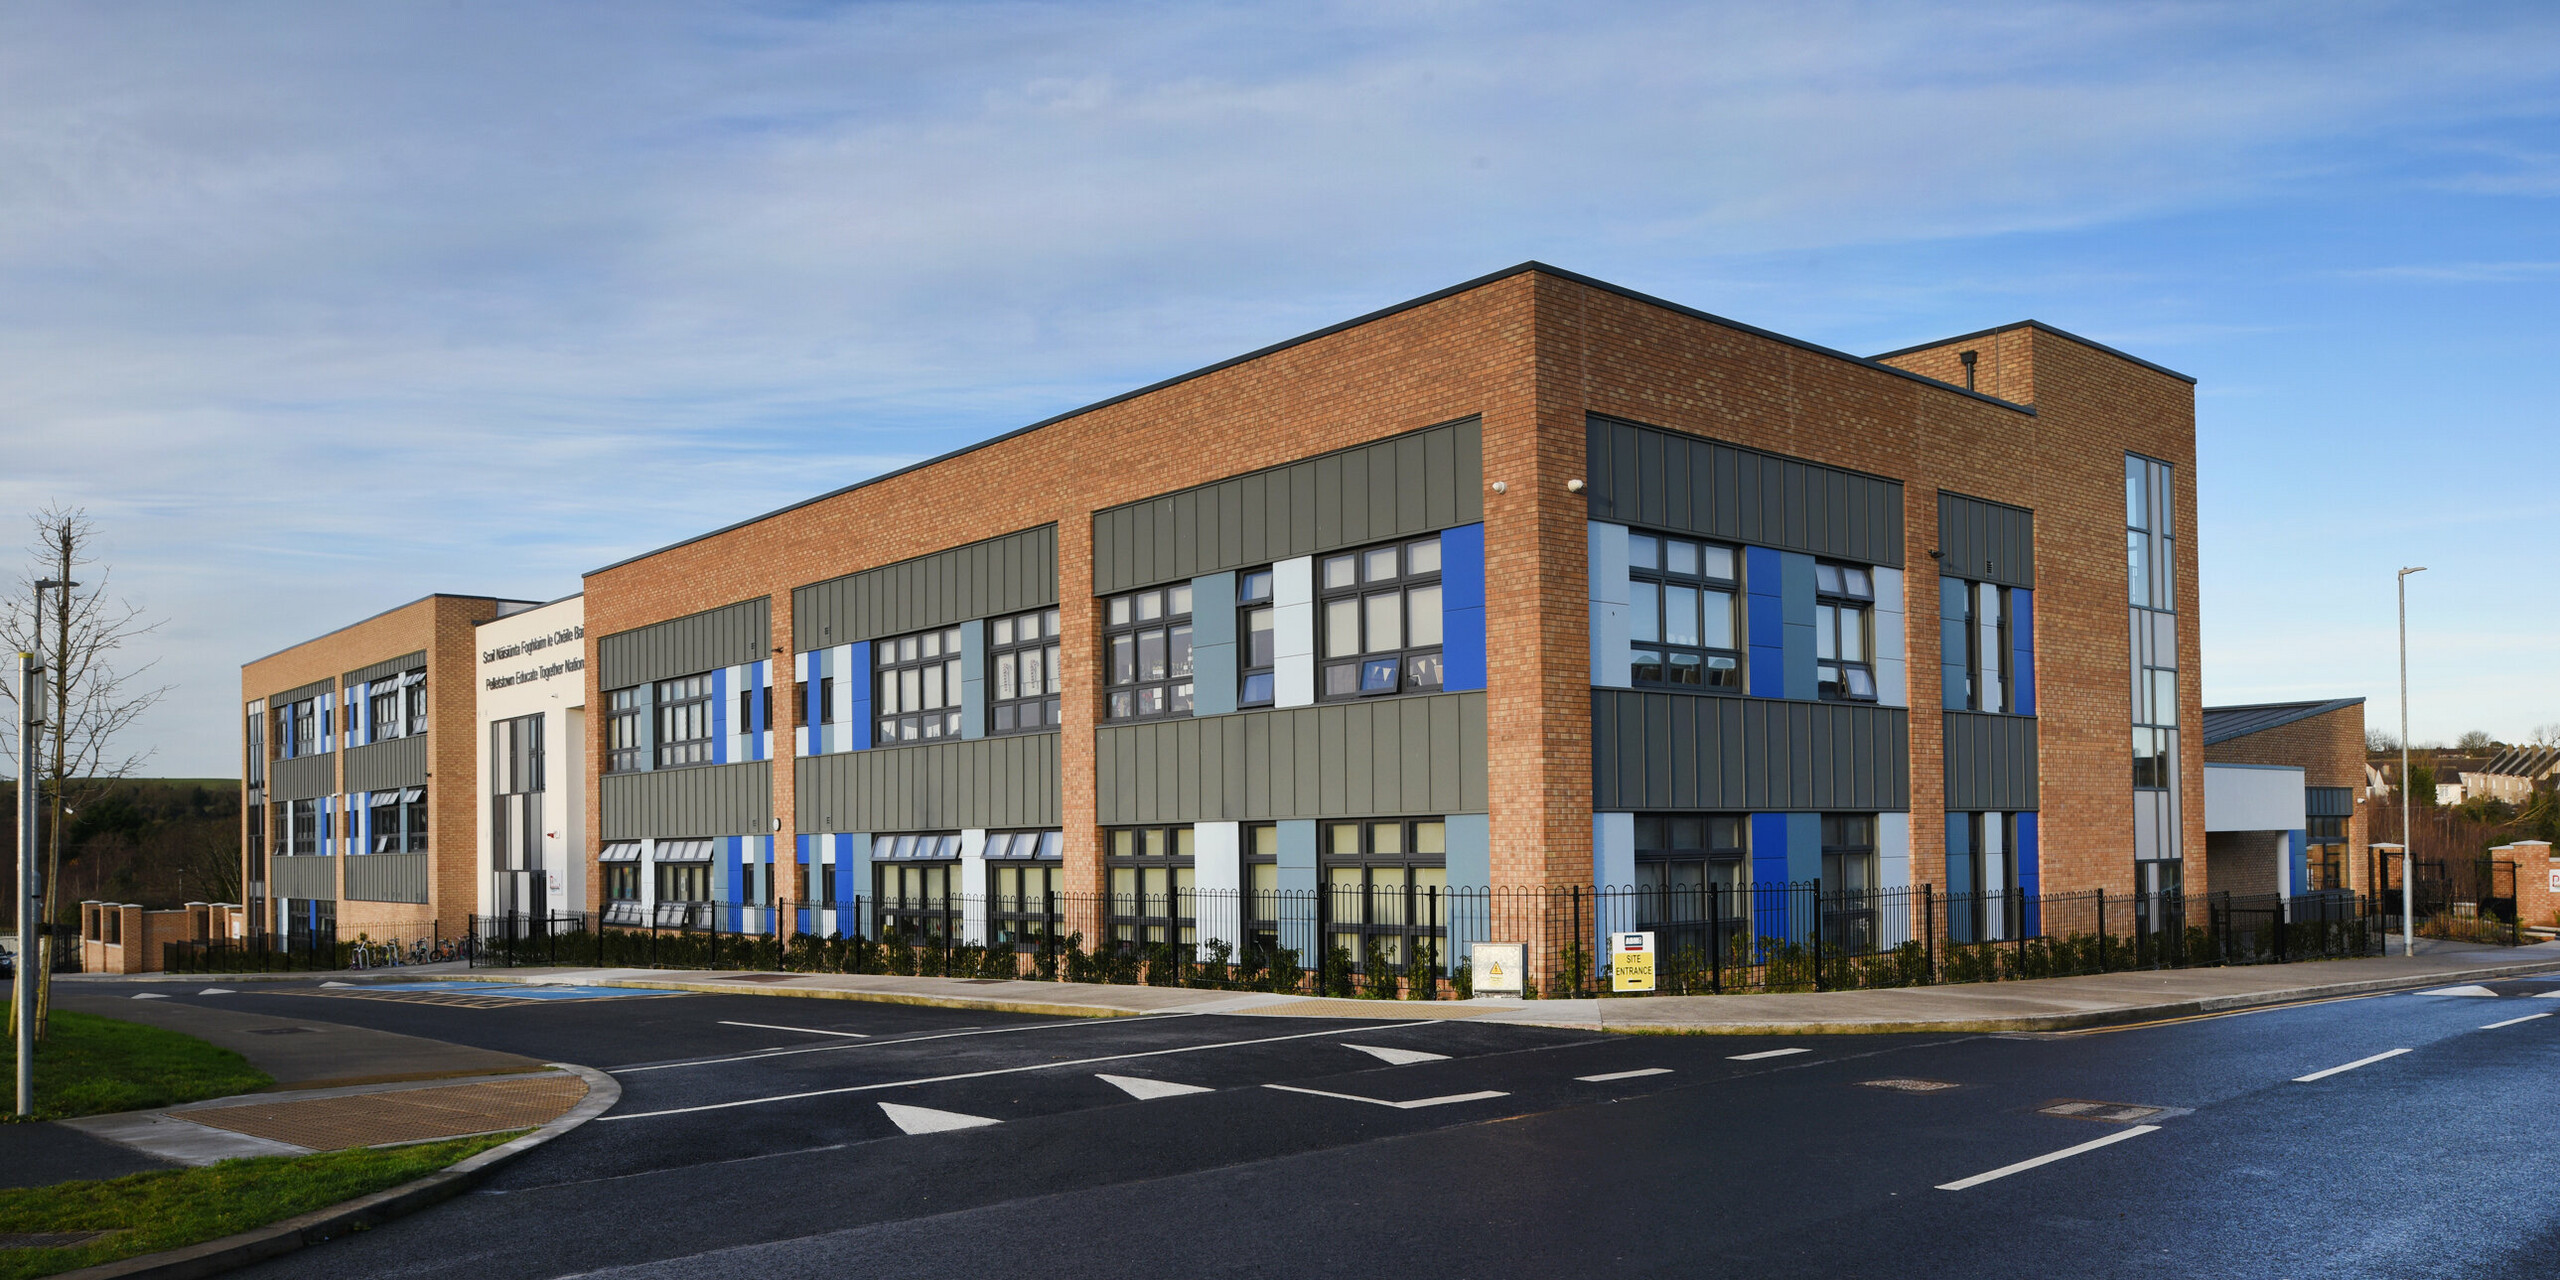
[[[223,1239],[397,1188],[522,1134],[525,1129],[412,1147],[266,1155],[202,1170],[0,1190],[0,1234],[110,1231],[67,1249],[0,1249],[0,1280]]]

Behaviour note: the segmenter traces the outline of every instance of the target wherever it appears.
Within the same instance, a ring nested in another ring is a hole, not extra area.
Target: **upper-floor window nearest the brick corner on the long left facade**
[[[1359,699],[1441,686],[1439,538],[1316,561],[1318,694]]]

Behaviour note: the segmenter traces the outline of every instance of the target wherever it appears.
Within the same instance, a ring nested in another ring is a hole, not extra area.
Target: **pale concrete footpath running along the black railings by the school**
[[[2022,983],[1915,986],[1784,996],[1613,996],[1585,1001],[1341,1001],[1252,991],[1032,983],[1001,978],[891,978],[868,973],[704,973],[630,968],[471,970],[499,983],[632,986],[737,996],[929,1004],[1060,1016],[1260,1014],[1349,1019],[1477,1019],[1523,1027],[1690,1034],[2066,1032],[2271,1004],[2368,996],[2488,978],[2560,973],[2560,942],[2463,947],[2419,942],[2419,955],[2307,960],[2189,970],[2132,970]]]

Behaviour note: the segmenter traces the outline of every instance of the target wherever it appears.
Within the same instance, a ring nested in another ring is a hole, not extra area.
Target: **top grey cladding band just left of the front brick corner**
[[[1093,512],[1093,591],[1485,520],[1475,417]]]

